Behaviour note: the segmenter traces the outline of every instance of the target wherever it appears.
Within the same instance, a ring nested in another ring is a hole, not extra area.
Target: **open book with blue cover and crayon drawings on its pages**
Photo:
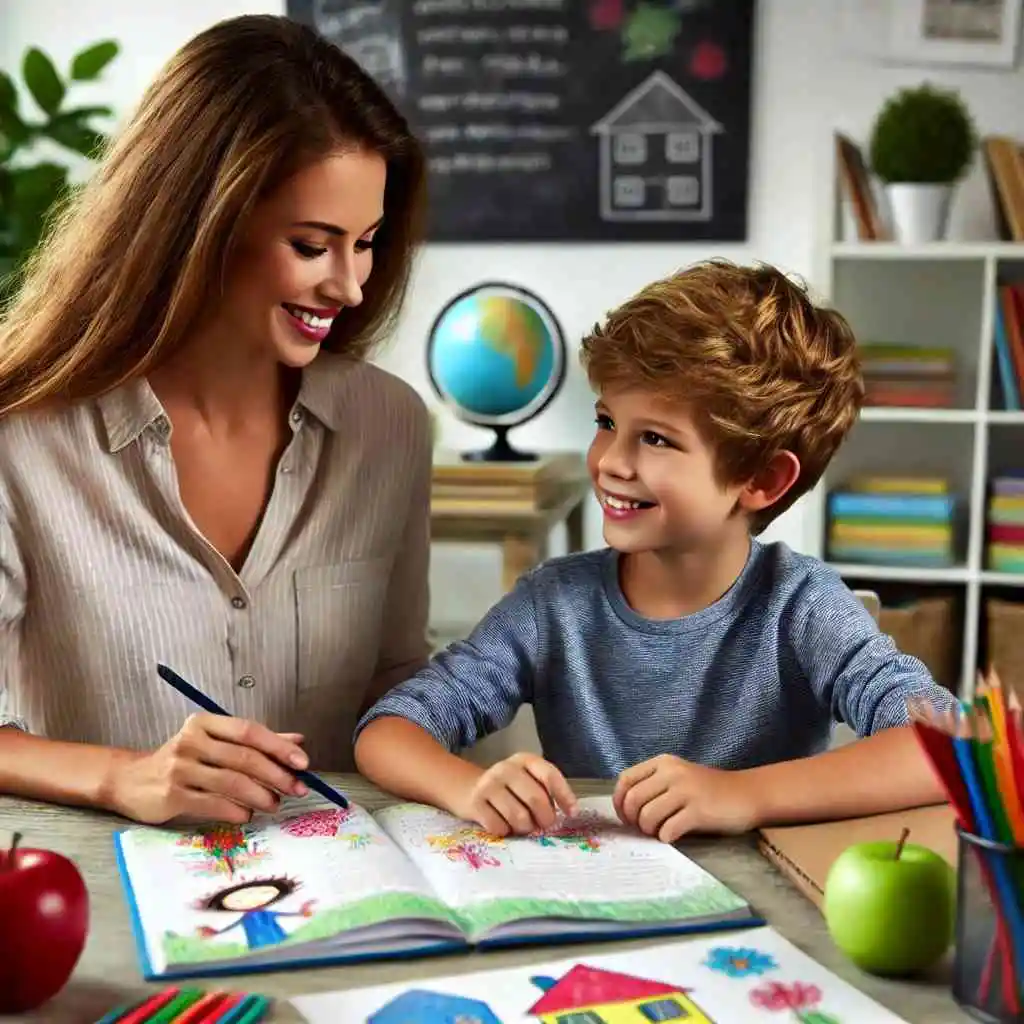
[[[607,798],[499,839],[419,804],[291,801],[243,827],[115,837],[147,980],[763,924]]]

